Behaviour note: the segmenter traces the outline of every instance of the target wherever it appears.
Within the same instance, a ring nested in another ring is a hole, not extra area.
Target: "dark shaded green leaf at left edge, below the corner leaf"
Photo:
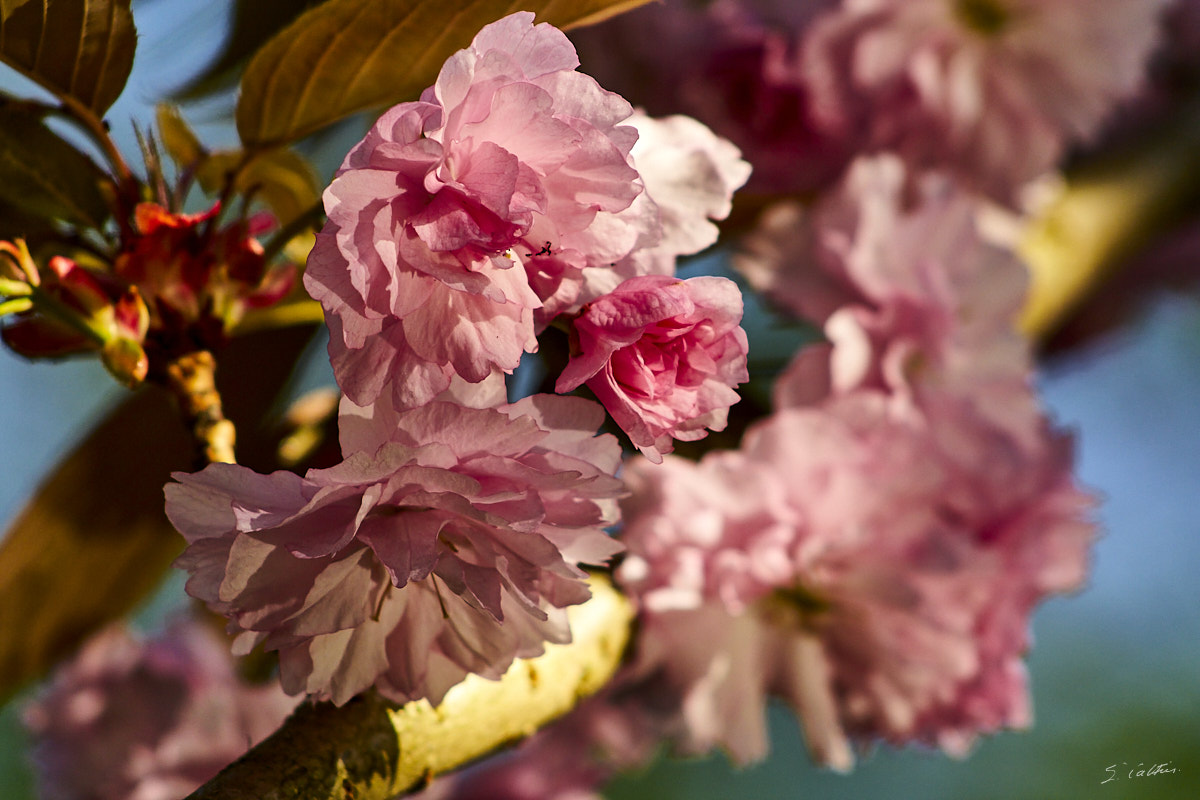
[[[108,218],[100,168],[36,115],[0,110],[0,200],[28,215],[98,228]]]

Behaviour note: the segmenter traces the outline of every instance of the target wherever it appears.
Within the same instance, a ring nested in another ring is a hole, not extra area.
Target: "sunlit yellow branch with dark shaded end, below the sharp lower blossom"
[[[188,800],[386,800],[518,741],[595,693],[616,672],[632,609],[607,579],[572,607],[574,642],[522,658],[498,681],[470,675],[437,708],[374,692],[302,706]]]

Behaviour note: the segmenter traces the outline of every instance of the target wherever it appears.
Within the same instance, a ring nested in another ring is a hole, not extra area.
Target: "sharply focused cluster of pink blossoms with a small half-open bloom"
[[[742,297],[673,277],[749,175],[684,118],[635,114],[532,13],[484,28],[419,102],[386,112],[325,193],[305,285],[346,397],[343,461],[300,476],[176,474],[188,593],[290,693],[439,702],[469,673],[568,642],[581,565],[620,546],[620,447],[578,397],[505,402],[556,320],[634,444],[721,429],[746,380]],[[556,332],[557,335],[557,332]]]

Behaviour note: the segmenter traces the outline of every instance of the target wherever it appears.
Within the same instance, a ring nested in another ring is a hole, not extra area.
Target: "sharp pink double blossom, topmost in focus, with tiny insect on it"
[[[413,407],[451,375],[511,372],[536,349],[535,315],[569,306],[583,269],[653,228],[653,206],[630,209],[632,109],[577,64],[557,29],[505,17],[347,156],[305,285],[355,402],[390,383]]]

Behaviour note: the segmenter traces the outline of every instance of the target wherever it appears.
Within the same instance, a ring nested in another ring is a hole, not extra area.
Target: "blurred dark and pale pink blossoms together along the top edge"
[[[668,0],[577,38],[606,85],[738,144],[754,191],[826,188],[886,151],[1015,204],[1140,89],[1169,5]]]

